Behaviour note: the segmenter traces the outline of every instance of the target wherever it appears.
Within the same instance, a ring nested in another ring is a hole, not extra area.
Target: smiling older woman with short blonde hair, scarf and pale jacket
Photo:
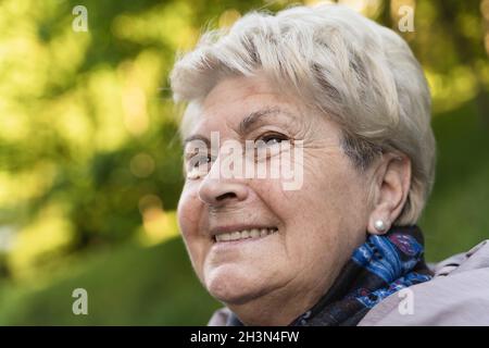
[[[171,79],[188,103],[178,222],[226,304],[211,325],[489,324],[487,245],[436,274],[423,259],[430,95],[396,33],[335,4],[253,12]],[[242,174],[276,158],[300,185]]]

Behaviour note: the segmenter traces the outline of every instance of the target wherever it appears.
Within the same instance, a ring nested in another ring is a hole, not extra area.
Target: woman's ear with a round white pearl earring
[[[399,216],[411,187],[411,160],[406,156],[386,153],[374,172],[374,195],[367,232],[384,234]]]

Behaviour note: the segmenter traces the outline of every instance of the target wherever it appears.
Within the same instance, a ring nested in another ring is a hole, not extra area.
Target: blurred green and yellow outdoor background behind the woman
[[[429,80],[438,141],[428,261],[489,238],[489,0],[339,2],[398,33],[401,7],[414,10],[400,34]],[[168,72],[204,27],[290,4],[0,0],[1,325],[206,323],[220,303],[178,236]],[[72,312],[79,287],[88,315]]]

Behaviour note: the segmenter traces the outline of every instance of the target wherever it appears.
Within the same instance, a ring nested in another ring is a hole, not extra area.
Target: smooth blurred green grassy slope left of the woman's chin
[[[217,303],[195,276],[180,239],[154,247],[124,245],[85,256],[82,268],[33,290],[5,287],[0,324],[201,325]],[[75,262],[76,263],[76,262]],[[67,271],[67,270],[66,270]],[[88,293],[88,315],[74,315],[72,291]]]

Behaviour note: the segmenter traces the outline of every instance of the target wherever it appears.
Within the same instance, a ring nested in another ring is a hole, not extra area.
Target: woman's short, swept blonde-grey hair
[[[258,71],[337,122],[359,169],[385,152],[408,156],[411,187],[394,224],[416,223],[432,187],[436,146],[429,89],[399,35],[337,4],[250,12],[206,32],[177,59],[174,99],[200,100],[222,78]]]

